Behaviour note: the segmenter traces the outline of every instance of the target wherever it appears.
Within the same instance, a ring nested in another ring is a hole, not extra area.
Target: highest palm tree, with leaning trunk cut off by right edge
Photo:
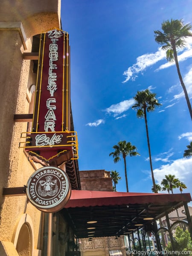
[[[183,82],[183,78],[180,73],[179,62],[177,58],[177,49],[185,47],[185,38],[192,36],[190,31],[192,26],[188,23],[183,24],[183,20],[166,20],[161,23],[161,28],[163,31],[155,30],[155,41],[158,44],[163,45],[162,49],[166,50],[166,59],[170,62],[175,61],[177,67],[177,73],[179,76],[180,84],[183,88],[187,106],[189,108],[189,113],[192,119],[192,108],[189,101],[189,96]]]

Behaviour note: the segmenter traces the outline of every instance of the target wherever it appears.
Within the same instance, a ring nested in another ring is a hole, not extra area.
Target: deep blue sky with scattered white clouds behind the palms
[[[71,101],[79,140],[79,169],[116,170],[126,192],[124,163],[109,157],[120,140],[140,156],[127,157],[129,192],[151,192],[152,180],[144,119],[131,107],[138,90],[149,89],[162,104],[148,113],[156,183],[174,174],[192,193],[192,121],[175,64],[154,41],[163,20],[192,24],[192,0],[62,0],[62,29],[70,35]],[[178,52],[180,70],[192,98],[192,38]],[[178,189],[175,189],[175,193]]]

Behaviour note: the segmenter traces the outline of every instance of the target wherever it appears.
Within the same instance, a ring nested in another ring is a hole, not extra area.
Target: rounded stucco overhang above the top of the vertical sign
[[[21,21],[30,38],[53,27],[60,28],[61,0],[3,0],[0,17],[3,22]]]

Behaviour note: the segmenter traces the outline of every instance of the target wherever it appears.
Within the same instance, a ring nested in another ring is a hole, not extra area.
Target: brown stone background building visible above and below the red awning
[[[105,170],[88,170],[79,172],[82,190],[113,191],[110,172]],[[93,237],[81,239],[79,248],[81,256],[125,256],[124,236]]]

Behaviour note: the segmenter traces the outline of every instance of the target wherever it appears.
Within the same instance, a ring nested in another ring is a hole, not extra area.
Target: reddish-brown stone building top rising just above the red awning
[[[105,170],[80,171],[81,189],[95,191],[113,191],[110,172]]]

